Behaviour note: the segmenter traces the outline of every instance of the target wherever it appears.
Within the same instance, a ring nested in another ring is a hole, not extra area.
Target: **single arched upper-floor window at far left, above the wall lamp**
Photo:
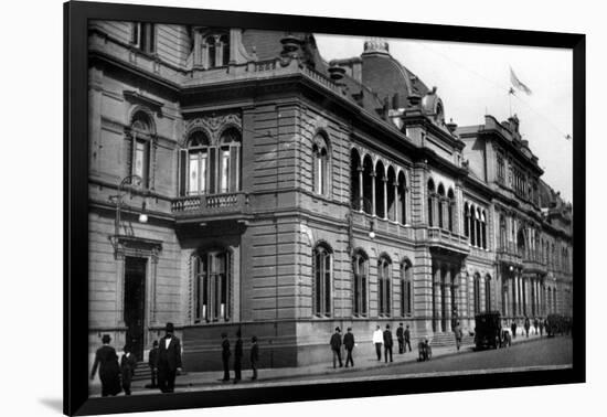
[[[137,111],[132,117],[129,138],[128,159],[130,163],[129,174],[141,178],[141,186],[150,185],[150,153],[152,141],[152,125],[148,115],[143,111]],[[131,183],[136,184],[135,181]]]

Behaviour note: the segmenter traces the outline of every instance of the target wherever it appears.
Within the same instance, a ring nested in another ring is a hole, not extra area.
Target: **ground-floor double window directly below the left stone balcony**
[[[231,314],[231,264],[226,250],[192,257],[194,322],[228,321]]]

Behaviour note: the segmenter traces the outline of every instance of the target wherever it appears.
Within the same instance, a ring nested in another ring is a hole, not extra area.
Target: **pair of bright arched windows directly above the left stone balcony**
[[[233,193],[241,190],[241,133],[227,128],[219,147],[196,130],[181,150],[181,195]]]

